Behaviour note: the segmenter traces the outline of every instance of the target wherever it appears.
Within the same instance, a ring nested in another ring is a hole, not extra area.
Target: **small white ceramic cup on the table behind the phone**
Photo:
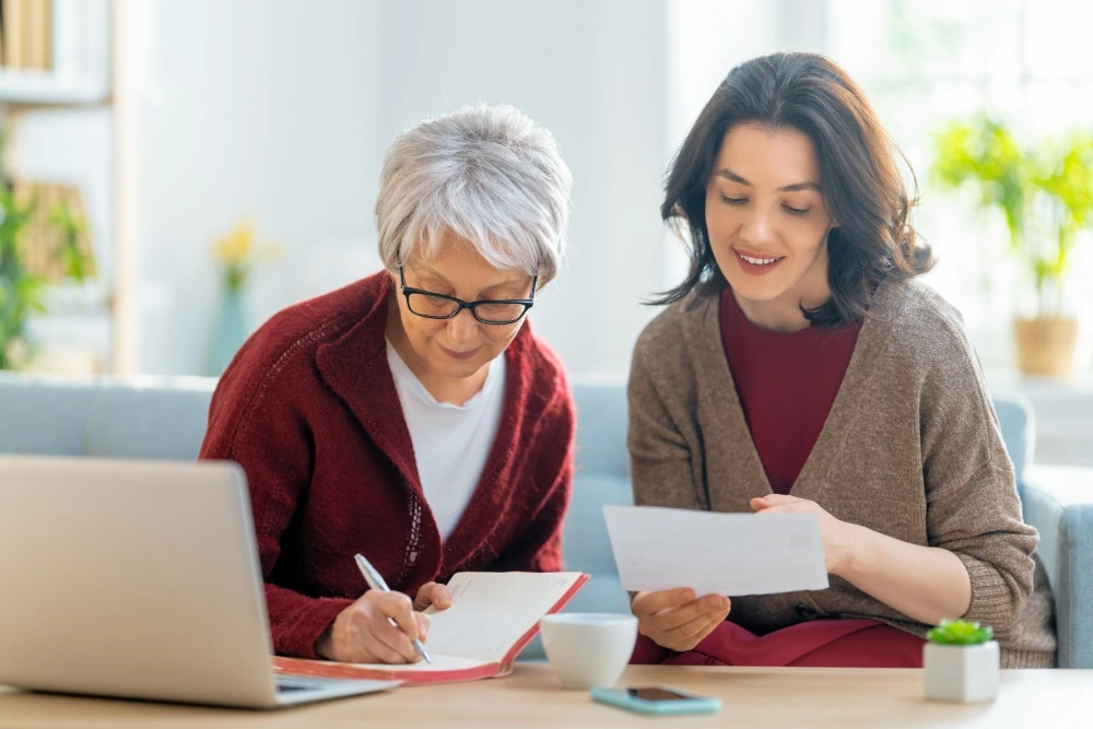
[[[637,618],[568,612],[539,621],[543,650],[563,689],[613,686],[637,640]]]

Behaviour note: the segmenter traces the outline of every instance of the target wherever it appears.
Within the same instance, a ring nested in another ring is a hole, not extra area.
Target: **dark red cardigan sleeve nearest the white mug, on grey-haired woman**
[[[491,569],[560,572],[564,568],[562,526],[573,492],[575,432],[573,395],[564,376],[561,376],[554,407],[543,414],[538,434],[529,438],[529,442],[542,445],[532,470],[532,478],[538,482],[533,493],[541,496],[529,505],[530,516],[521,527],[519,544],[509,553],[498,555]]]

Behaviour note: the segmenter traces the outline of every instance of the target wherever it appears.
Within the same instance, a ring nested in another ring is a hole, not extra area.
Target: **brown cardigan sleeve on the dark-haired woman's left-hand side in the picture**
[[[682,374],[686,368],[680,364],[686,353],[678,339],[678,327],[663,324],[661,318],[654,320],[638,339],[626,388],[626,445],[634,503],[704,509],[706,484],[694,467],[702,462],[702,454],[692,452],[697,438],[687,435],[694,423],[689,420],[691,414],[678,407],[689,401],[693,391],[693,384]],[[672,363],[668,369],[657,366],[666,362]],[[671,374],[672,381],[665,381]],[[670,390],[675,408],[663,397],[666,390]]]

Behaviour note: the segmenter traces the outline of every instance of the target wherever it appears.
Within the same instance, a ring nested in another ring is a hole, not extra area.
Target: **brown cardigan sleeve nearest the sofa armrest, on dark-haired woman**
[[[1013,466],[971,343],[942,327],[920,396],[931,546],[953,552],[972,583],[965,620],[1006,631],[1032,592],[1036,530],[1022,521]]]

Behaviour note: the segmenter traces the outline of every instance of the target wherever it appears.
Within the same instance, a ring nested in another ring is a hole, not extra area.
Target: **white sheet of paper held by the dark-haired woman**
[[[691,587],[736,597],[827,587],[812,514],[604,506],[603,517],[625,590]]]

